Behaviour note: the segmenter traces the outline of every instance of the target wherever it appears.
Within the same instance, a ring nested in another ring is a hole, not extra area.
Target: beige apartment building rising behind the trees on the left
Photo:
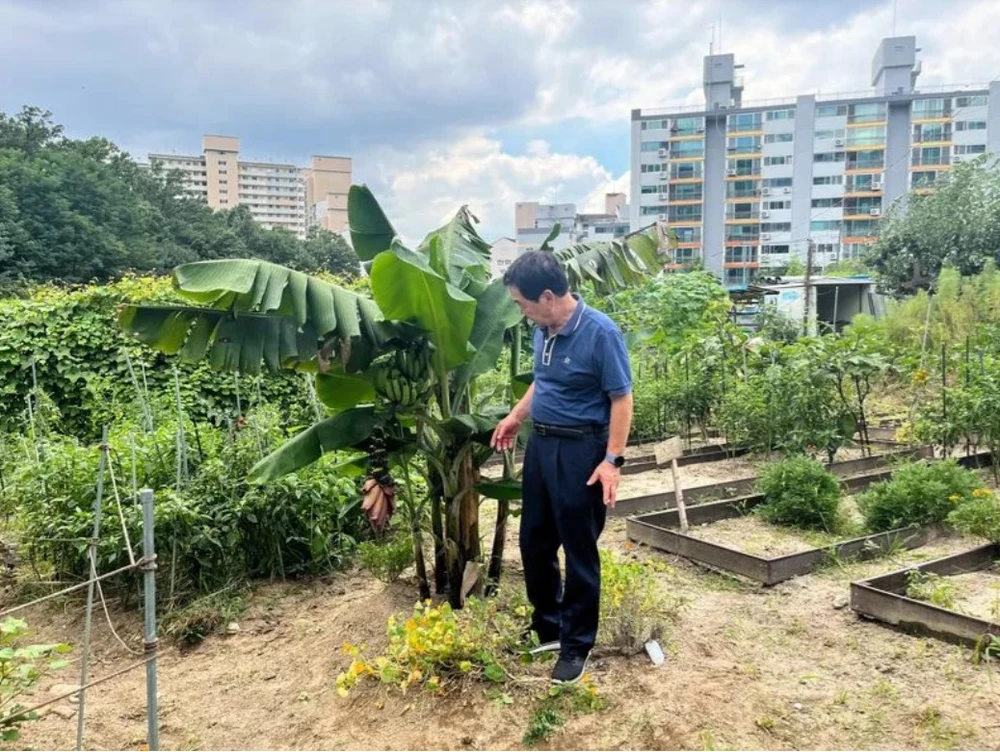
[[[331,232],[347,228],[349,157],[314,156],[309,167],[298,167],[243,161],[239,154],[238,138],[206,135],[200,156],[150,154],[149,164],[179,170],[185,195],[213,209],[248,206],[267,228],[284,227],[300,238],[314,226]]]

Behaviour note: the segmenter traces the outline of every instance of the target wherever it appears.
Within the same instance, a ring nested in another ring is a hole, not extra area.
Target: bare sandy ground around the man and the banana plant
[[[721,463],[716,463],[721,464]],[[740,467],[739,461],[727,464]],[[752,465],[743,465],[744,470]],[[687,469],[687,468],[685,468]],[[724,480],[725,470],[691,466]],[[731,477],[731,476],[729,476]],[[705,481],[710,482],[710,481]],[[481,532],[492,537],[484,505]],[[519,587],[517,520],[508,531],[505,583]],[[667,660],[601,655],[589,672],[607,708],[556,729],[549,749],[997,749],[997,664],[972,651],[916,638],[858,618],[845,607],[852,580],[955,553],[977,541],[948,538],[914,551],[831,566],[762,588],[635,546],[625,521],[609,519],[603,547],[666,564],[663,588],[687,605],[664,640]],[[510,690],[513,703],[479,685],[444,697],[368,685],[346,699],[335,679],[349,659],[345,640],[385,644],[386,620],[416,599],[412,573],[385,585],[351,570],[298,583],[260,584],[239,631],[195,649],[166,648],[159,661],[164,749],[520,749],[541,685]],[[135,609],[114,603],[112,620],[133,649]],[[80,599],[26,614],[41,640],[78,642]],[[91,676],[136,660],[95,612]],[[37,697],[73,683],[78,667],[47,678]],[[135,749],[145,740],[142,671],[87,694],[85,746]],[[65,713],[66,705],[62,703]],[[72,706],[69,707],[72,712]],[[18,746],[66,749],[76,718],[48,713],[27,724]]]

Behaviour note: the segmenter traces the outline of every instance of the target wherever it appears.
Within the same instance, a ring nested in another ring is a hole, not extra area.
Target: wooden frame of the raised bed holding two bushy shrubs
[[[871,461],[876,458],[865,459]],[[979,467],[989,462],[989,453],[963,457],[959,461],[967,466]],[[888,460],[883,457],[882,464],[885,465],[887,462]],[[841,486],[847,492],[860,491],[873,483],[886,480],[891,475],[890,469],[879,469],[876,466],[867,473],[843,479]],[[689,496],[687,490],[684,495],[687,500]],[[687,507],[688,523],[693,528],[720,520],[740,518],[762,503],[764,503],[762,494],[749,494],[722,501],[695,504]],[[637,543],[645,543],[716,569],[742,575],[763,585],[776,585],[792,577],[808,574],[831,557],[871,558],[892,547],[917,548],[941,535],[941,531],[936,528],[909,527],[850,540],[831,541],[828,544],[805,547],[791,553],[763,556],[734,546],[704,540],[698,534],[691,534],[690,528],[688,533],[682,533],[676,509],[629,517],[625,523],[625,530],[629,539]]]

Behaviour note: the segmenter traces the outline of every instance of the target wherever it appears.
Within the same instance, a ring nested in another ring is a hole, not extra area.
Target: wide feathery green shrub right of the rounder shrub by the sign
[[[956,506],[974,498],[982,484],[955,460],[914,462],[858,495],[858,507],[874,533],[944,522]]]

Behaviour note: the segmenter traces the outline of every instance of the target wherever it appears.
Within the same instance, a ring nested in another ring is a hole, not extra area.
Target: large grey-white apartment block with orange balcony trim
[[[883,39],[871,90],[743,101],[732,54],[704,59],[702,105],[633,110],[633,230],[666,223],[673,263],[729,287],[760,268],[854,258],[884,211],[953,164],[1000,152],[1000,82],[918,88],[916,38]]]

